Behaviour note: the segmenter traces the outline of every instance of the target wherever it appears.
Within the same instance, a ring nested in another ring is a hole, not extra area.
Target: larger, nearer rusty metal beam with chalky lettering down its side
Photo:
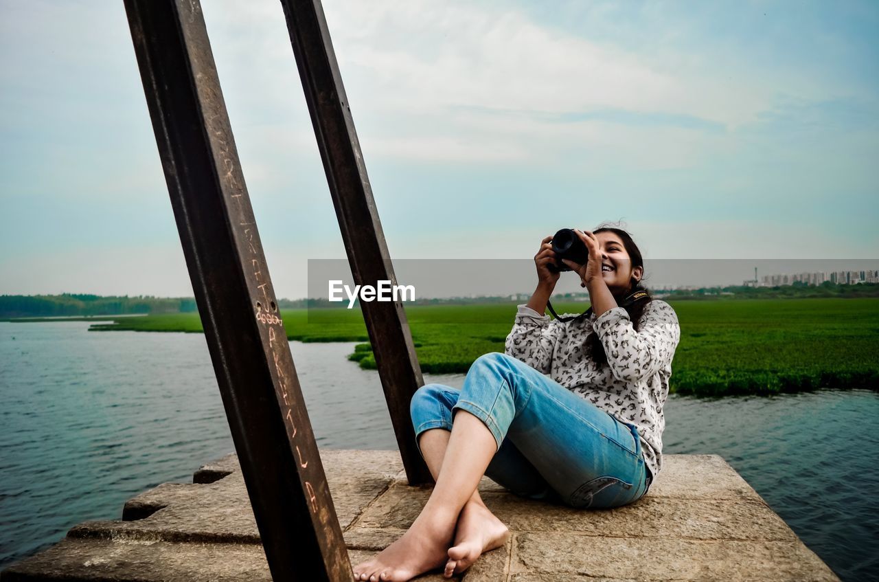
[[[198,0],[125,0],[171,206],[274,580],[352,579]]]

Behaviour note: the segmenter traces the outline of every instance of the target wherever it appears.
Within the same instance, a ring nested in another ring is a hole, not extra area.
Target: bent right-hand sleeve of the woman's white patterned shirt
[[[672,306],[653,300],[644,309],[638,331],[621,307],[595,319],[595,332],[607,354],[607,364],[622,382],[638,382],[671,367],[680,341],[678,316]]]

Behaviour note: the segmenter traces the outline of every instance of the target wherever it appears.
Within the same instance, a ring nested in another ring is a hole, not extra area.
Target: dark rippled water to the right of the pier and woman
[[[875,418],[879,394],[862,389],[672,396],[664,447],[722,455],[840,578],[861,580],[879,555],[879,447],[863,428]]]

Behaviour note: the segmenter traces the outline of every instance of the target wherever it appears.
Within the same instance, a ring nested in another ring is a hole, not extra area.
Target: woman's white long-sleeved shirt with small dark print
[[[599,334],[607,353],[606,365],[589,354],[592,333]],[[655,479],[662,469],[663,405],[679,340],[677,314],[671,305],[657,299],[645,306],[638,331],[621,307],[599,317],[592,314],[561,322],[519,305],[505,352],[622,423],[635,425],[644,462]]]

